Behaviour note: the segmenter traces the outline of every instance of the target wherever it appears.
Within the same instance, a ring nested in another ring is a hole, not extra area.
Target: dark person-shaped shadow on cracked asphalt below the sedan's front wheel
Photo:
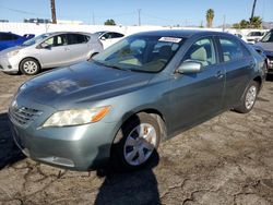
[[[122,128],[121,131],[124,136]],[[119,143],[121,141],[115,142],[112,146],[119,146]],[[105,150],[104,147],[98,148],[97,158],[103,150]],[[126,172],[121,168],[114,169],[112,164],[116,161],[112,160],[110,158],[108,166],[96,172],[99,178],[105,178],[105,180],[98,190],[95,205],[161,204],[157,180],[153,172],[153,168],[159,161],[156,150],[145,166],[134,171]]]

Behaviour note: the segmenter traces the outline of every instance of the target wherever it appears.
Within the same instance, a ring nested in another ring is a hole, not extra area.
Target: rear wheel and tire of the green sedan
[[[236,107],[235,110],[240,113],[250,112],[256,104],[259,87],[259,84],[256,81],[252,81],[246,89],[240,105]]]

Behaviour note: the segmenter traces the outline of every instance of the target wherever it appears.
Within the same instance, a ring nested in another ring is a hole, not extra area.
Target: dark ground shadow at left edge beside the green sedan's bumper
[[[0,113],[0,169],[23,158],[24,155],[13,141],[8,113]]]

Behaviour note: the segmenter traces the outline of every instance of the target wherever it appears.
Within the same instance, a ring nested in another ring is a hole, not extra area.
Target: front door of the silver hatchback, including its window
[[[70,48],[66,34],[52,36],[46,39],[44,44],[47,46],[39,49],[44,68],[55,68],[70,63]]]

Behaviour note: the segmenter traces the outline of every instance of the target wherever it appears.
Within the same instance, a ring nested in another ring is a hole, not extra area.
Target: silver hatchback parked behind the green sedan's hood
[[[0,52],[0,70],[35,75],[41,69],[73,64],[103,50],[96,36],[87,33],[57,32],[32,38]]]

